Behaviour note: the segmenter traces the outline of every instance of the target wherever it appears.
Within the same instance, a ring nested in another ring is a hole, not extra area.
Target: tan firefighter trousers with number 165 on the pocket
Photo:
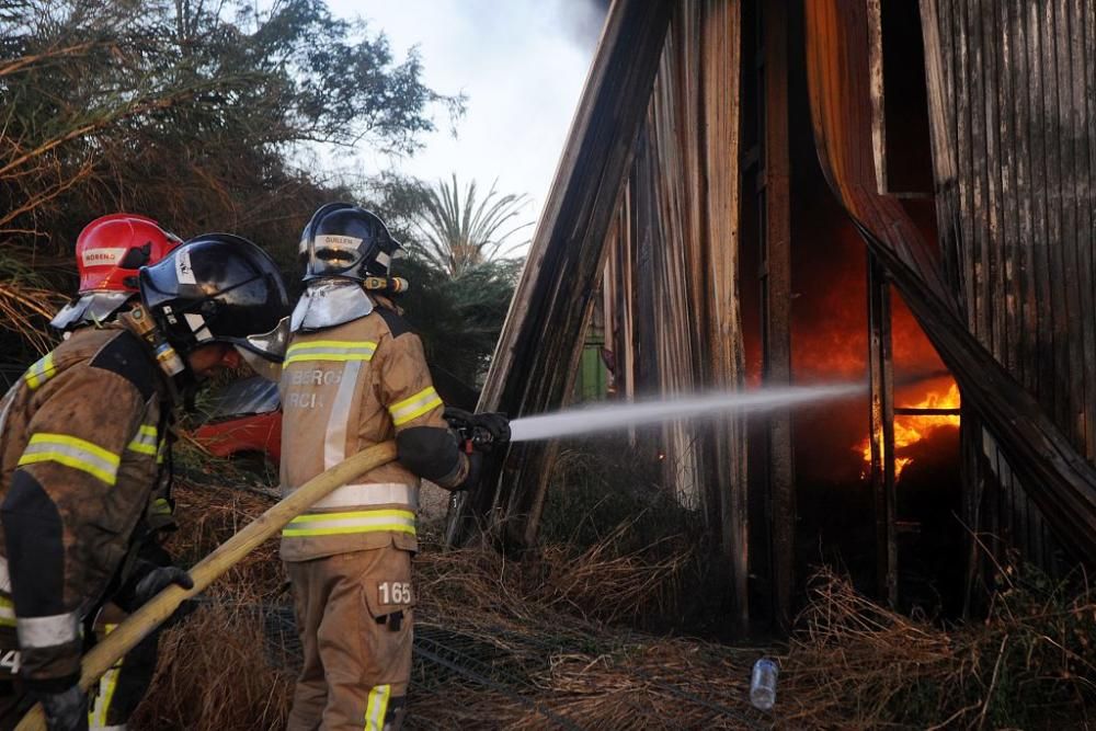
[[[305,655],[287,731],[398,731],[411,677],[411,551],[285,566]]]

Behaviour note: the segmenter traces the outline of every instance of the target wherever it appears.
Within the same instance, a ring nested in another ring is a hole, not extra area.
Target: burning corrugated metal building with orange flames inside
[[[1088,560],[1094,28],[1091,0],[615,0],[480,407],[566,406],[591,327],[618,399],[866,379],[637,445],[742,626],[787,619],[827,511],[892,604],[925,541],[960,604],[986,557]],[[557,448],[514,445],[449,539],[535,541]]]

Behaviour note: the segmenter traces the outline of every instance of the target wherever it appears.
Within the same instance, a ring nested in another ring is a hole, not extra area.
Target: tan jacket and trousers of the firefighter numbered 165
[[[441,467],[420,470],[423,477],[455,488],[468,476],[422,343],[386,307],[296,333],[281,395],[287,492],[409,430],[448,439],[429,457]],[[336,489],[283,530],[305,651],[289,731],[399,727],[411,673],[418,491],[419,477],[390,462]]]

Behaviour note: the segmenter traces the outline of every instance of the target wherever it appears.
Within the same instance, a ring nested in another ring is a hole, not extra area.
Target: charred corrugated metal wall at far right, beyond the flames
[[[968,328],[1089,461],[1096,457],[1096,8],[922,2],[937,207]],[[978,525],[1032,560],[1054,541],[986,435]]]

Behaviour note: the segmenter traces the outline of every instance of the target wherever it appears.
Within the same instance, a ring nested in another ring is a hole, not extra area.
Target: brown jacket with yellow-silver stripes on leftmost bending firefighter
[[[0,642],[15,630],[24,681],[75,682],[81,620],[170,519],[170,404],[151,350],[122,324],[76,331],[0,401]]]

